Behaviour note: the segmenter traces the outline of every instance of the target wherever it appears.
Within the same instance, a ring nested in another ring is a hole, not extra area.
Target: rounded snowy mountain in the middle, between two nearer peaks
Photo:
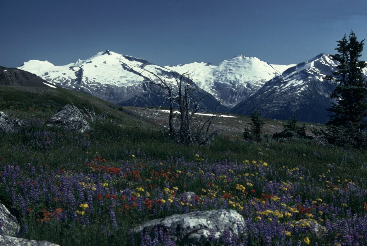
[[[259,90],[268,80],[280,75],[292,65],[270,65],[257,57],[237,55],[218,65],[193,62],[166,66],[180,74],[189,73],[192,80],[203,90],[235,106]]]

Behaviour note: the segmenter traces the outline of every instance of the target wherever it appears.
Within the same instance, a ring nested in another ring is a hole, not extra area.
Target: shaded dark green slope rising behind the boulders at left
[[[148,129],[158,127],[149,119],[142,120],[142,117],[135,117],[134,113],[124,111],[121,106],[80,91],[48,86],[38,88],[0,85],[0,111],[17,119],[44,122],[66,104],[73,104],[84,111],[93,108],[96,115],[108,112],[110,119],[122,121],[128,126]]]

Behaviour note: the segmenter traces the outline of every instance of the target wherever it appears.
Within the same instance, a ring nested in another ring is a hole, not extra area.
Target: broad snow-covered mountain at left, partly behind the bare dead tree
[[[175,87],[177,72],[151,64],[145,59],[117,54],[106,50],[86,60],[78,60],[64,66],[55,66],[48,61],[31,60],[19,69],[34,73],[49,83],[80,90],[118,105],[160,106],[165,101],[165,91],[149,82],[159,82],[153,72]],[[149,72],[147,72],[148,70]],[[178,88],[178,87],[177,87]],[[203,110],[214,110],[218,100],[200,89],[195,96],[201,99]],[[217,111],[228,111],[219,105]]]

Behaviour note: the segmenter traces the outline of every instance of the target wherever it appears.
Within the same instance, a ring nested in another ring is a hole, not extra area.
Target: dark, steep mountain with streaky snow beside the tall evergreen
[[[336,66],[329,55],[319,54],[272,78],[231,112],[248,115],[257,108],[262,117],[271,119],[287,120],[295,114],[300,121],[326,123],[335,84],[323,77]]]

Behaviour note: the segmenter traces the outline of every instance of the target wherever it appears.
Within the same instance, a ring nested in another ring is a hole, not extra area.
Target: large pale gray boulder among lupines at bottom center
[[[190,243],[206,243],[210,238],[219,239],[225,230],[240,234],[238,228],[244,228],[243,217],[235,210],[195,211],[188,214],[174,214],[165,218],[150,220],[133,230],[140,233],[154,227],[164,228],[172,239],[180,242],[185,239]]]

